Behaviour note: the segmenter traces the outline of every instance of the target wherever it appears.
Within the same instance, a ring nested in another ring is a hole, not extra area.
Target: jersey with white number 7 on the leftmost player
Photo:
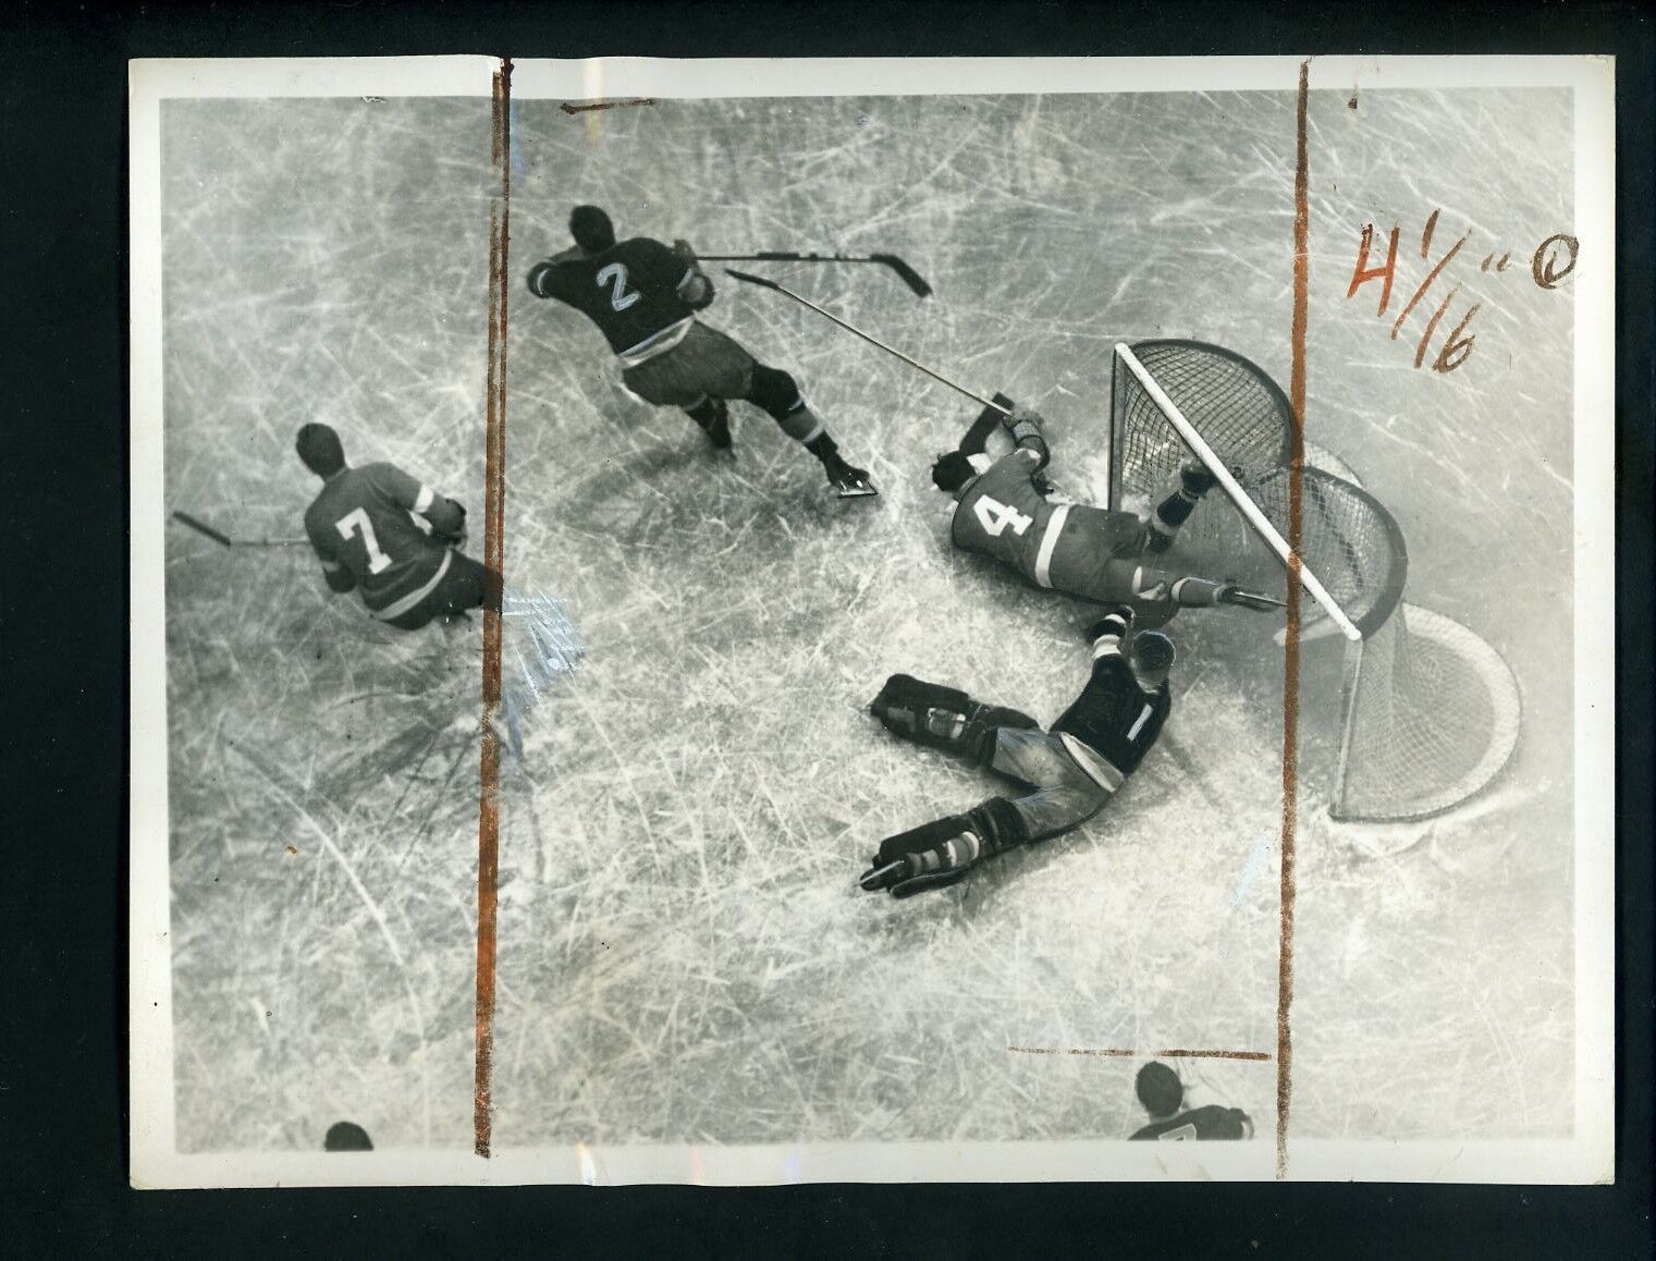
[[[344,469],[305,510],[305,534],[328,585],[359,587],[381,618],[407,611],[442,580],[452,560],[447,539],[464,529],[459,504],[394,464]]]

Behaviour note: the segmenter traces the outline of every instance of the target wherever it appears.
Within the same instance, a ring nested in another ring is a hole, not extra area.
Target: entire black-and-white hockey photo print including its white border
[[[134,1185],[1613,1180],[1613,98],[134,61]]]

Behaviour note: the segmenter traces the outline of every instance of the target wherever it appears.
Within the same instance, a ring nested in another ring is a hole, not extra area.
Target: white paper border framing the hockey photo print
[[[1293,91],[1303,58],[517,61],[517,99]],[[174,1145],[162,505],[161,103],[470,96],[498,61],[151,60],[131,119],[131,1176],[137,1188],[520,1183],[1268,1180],[1260,1142],[803,1143],[227,1152]],[[1570,88],[1575,98],[1575,1135],[1288,1138],[1288,1180],[1601,1183],[1615,1173],[1615,65],[1608,56],[1315,56],[1310,88]]]

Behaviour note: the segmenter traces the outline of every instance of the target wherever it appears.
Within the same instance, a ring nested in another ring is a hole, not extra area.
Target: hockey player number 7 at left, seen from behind
[[[459,550],[464,507],[394,464],[353,469],[326,424],[303,426],[295,447],[325,482],[305,510],[305,534],[328,590],[359,590],[368,611],[399,630],[484,603],[489,570]]]

